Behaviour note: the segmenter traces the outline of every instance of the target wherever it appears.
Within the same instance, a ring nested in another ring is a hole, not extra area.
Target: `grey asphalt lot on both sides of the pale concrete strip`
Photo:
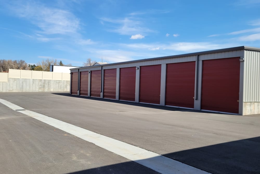
[[[0,93],[0,98],[210,173],[260,172],[259,116],[198,112],[68,93]],[[105,166],[114,166],[114,173],[153,172],[4,105],[0,107],[0,131],[5,135],[0,141],[0,150],[5,152],[0,162],[9,166],[0,167],[0,173],[18,164],[20,170],[32,166],[31,171],[46,173],[90,169],[106,173]],[[16,144],[10,144],[14,141]]]

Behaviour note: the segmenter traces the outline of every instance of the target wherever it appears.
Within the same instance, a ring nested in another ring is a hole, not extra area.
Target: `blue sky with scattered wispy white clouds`
[[[0,59],[82,66],[260,47],[260,0],[0,0]]]

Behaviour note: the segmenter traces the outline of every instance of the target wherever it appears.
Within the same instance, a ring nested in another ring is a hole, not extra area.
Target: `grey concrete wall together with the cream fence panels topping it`
[[[67,92],[69,73],[9,69],[0,73],[0,92]]]

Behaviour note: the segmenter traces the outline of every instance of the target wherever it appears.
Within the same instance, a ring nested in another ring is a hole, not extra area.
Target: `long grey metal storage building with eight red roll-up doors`
[[[72,95],[237,115],[260,113],[260,48],[240,46],[70,71]]]

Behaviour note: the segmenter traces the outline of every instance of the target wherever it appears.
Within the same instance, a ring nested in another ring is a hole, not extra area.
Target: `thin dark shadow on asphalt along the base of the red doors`
[[[219,112],[208,112],[208,111],[185,109],[185,108],[179,108],[179,107],[160,106],[160,105],[145,104],[145,103],[135,103],[135,102],[131,102],[131,101],[102,99],[102,98],[87,97],[87,96],[81,96],[81,95],[70,95],[69,93],[51,93],[51,94],[62,95],[62,96],[67,96],[67,97],[74,97],[74,98],[85,98],[85,99],[95,100],[95,101],[106,101],[106,102],[110,102],[110,103],[120,103],[120,104],[132,105],[132,106],[148,107],[148,108],[161,109],[161,110],[167,110],[167,111],[182,111],[182,112],[218,113],[218,114],[221,114]],[[232,115],[232,114],[230,114],[230,115]]]

